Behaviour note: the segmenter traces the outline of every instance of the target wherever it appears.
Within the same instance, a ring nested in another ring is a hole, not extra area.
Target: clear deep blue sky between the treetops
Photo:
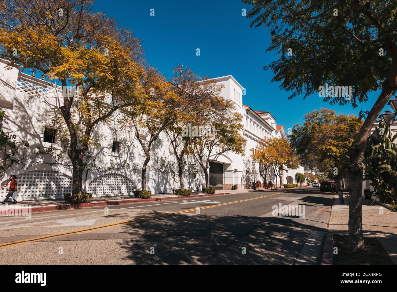
[[[154,16],[150,16],[152,8]],[[233,75],[247,90],[243,103],[270,111],[286,130],[302,124],[304,114],[321,107],[356,115],[361,108],[370,110],[377,92],[370,93],[368,101],[356,109],[330,106],[318,95],[288,100],[290,93],[280,91],[279,83],[270,83],[273,72],[262,69],[276,59],[273,52],[265,52],[270,31],[251,29],[251,19],[241,15],[243,8],[248,12],[249,6],[238,0],[96,0],[94,5],[95,11],[116,18],[120,26],[143,39],[146,59],[168,79],[177,64],[200,76]],[[196,48],[200,48],[200,56],[196,56]]]

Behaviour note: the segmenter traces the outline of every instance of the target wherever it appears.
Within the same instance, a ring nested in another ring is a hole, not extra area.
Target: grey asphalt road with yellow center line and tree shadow
[[[279,216],[280,203],[304,219]],[[294,264],[331,203],[301,188],[0,217],[0,263]]]

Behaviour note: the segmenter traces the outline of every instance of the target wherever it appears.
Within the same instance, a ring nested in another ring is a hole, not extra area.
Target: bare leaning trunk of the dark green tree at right
[[[349,248],[364,249],[364,238],[362,235],[362,158],[364,149],[370,135],[372,126],[378,118],[381,110],[395,92],[396,87],[385,85],[374,106],[366,117],[357,139],[349,149]]]

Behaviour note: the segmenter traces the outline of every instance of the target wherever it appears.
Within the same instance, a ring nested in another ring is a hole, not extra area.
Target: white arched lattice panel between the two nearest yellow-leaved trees
[[[119,194],[131,195],[133,182],[126,176],[116,173],[109,173],[99,176],[88,185],[88,192],[93,195]]]

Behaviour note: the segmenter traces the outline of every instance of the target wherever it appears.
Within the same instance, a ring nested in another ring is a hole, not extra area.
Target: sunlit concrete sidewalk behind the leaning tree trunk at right
[[[338,195],[333,196],[329,232],[348,234],[349,194],[344,193],[344,204],[339,204]],[[374,236],[382,244],[389,257],[397,265],[397,212],[380,205],[369,205],[372,200],[362,199],[362,229],[364,236]],[[383,214],[382,214],[383,212]]]

